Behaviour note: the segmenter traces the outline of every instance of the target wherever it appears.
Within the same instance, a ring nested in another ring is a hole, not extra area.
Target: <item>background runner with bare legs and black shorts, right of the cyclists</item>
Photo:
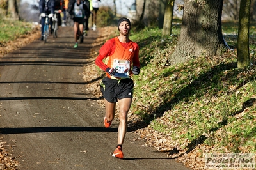
[[[74,48],[77,48],[78,43],[77,40],[79,36],[83,38],[83,30],[84,30],[84,16],[86,13],[90,12],[87,8],[86,4],[82,0],[77,0],[71,4],[70,7],[70,15],[74,15],[74,38],[75,38],[75,45]],[[80,32],[80,34],[79,34]],[[83,39],[82,41],[83,42]]]

